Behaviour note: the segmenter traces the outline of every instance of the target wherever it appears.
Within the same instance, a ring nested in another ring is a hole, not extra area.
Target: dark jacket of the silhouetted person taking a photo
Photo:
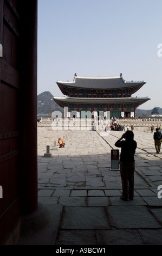
[[[132,163],[134,162],[135,149],[137,148],[137,142],[131,141],[116,141],[115,147],[121,148],[120,162]]]

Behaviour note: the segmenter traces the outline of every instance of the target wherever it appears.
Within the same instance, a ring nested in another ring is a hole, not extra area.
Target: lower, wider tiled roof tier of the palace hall
[[[118,97],[118,98],[95,98],[95,97],[54,97],[57,102],[64,103],[144,103],[149,97]]]

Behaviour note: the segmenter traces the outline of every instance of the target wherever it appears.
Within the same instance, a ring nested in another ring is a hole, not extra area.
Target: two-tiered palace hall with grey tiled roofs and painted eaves
[[[132,97],[145,81],[125,81],[122,74],[112,77],[84,77],[74,75],[73,82],[57,81],[61,92],[66,95],[53,100],[61,107],[68,107],[69,112],[90,111],[92,117],[102,112],[109,118],[135,118],[135,109],[150,100],[149,97]]]

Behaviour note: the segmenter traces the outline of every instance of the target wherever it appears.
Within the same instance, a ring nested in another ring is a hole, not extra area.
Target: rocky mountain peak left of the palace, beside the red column
[[[50,92],[44,92],[37,95],[37,114],[51,115],[54,111],[63,113],[63,108],[57,105],[53,100],[53,95]]]

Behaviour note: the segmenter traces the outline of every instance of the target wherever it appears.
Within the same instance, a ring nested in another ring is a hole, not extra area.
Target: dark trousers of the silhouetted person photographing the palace
[[[124,199],[134,196],[134,169],[135,163],[120,162],[120,175],[122,183],[122,197]]]

